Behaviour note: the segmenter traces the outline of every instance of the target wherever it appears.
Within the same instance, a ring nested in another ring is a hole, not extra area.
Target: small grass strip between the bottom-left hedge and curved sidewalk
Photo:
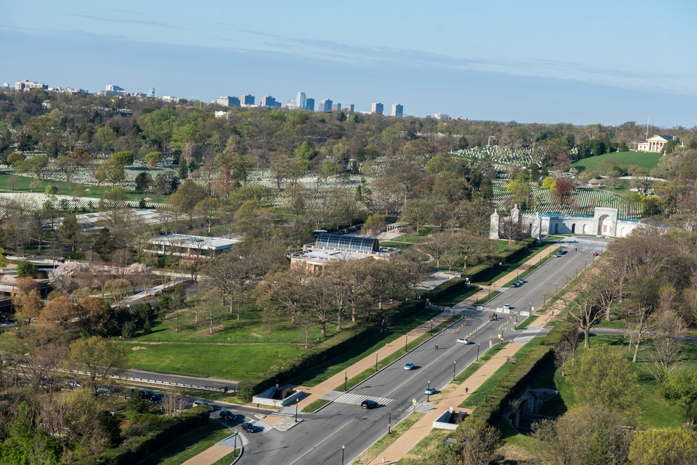
[[[208,425],[194,429],[192,432],[178,436],[175,441],[164,446],[154,454],[148,455],[138,465],[179,465],[191,457],[199,455],[211,445],[222,441],[233,432],[217,420]],[[227,462],[228,464],[232,463]]]

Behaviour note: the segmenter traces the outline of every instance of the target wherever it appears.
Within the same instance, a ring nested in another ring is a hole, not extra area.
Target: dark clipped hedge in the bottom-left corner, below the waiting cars
[[[133,436],[118,445],[107,449],[101,454],[90,455],[75,462],[73,465],[128,465],[135,464],[155,450],[174,441],[191,429],[206,425],[210,418],[208,406],[200,405],[189,409],[181,415],[167,418],[153,425],[150,432],[144,436]]]

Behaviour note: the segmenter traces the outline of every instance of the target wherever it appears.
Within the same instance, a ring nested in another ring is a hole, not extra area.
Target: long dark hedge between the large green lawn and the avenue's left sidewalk
[[[360,344],[367,337],[378,333],[381,323],[384,321],[386,326],[390,326],[397,319],[415,314],[424,310],[426,305],[425,300],[407,300],[397,307],[386,310],[385,312],[376,313],[367,319],[366,323],[361,323],[353,328],[343,330],[341,333],[333,336],[331,339],[318,344],[312,349],[302,353],[296,360],[290,360],[284,363],[283,369],[267,375],[265,378],[245,379],[237,384],[237,397],[245,402],[251,402],[252,397],[259,392],[270,388],[274,384],[283,384],[289,379],[298,376],[310,367],[321,365],[322,363],[339,356],[344,351]],[[376,324],[369,324],[370,322]]]

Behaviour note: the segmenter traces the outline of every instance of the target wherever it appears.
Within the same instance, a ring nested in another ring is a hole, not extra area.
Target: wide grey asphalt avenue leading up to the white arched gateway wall
[[[570,239],[570,240],[575,240]],[[554,292],[566,283],[565,277],[576,276],[594,258],[592,252],[600,252],[606,241],[591,238],[578,238],[578,243],[569,243],[567,254],[551,259],[530,277],[528,283],[520,288],[507,289],[485,307],[503,307],[508,303],[514,311],[527,309],[532,305],[542,305],[546,291]],[[567,239],[566,241],[569,241]],[[578,250],[575,250],[575,249]],[[557,284],[558,283],[558,284]],[[489,321],[491,310],[458,310],[468,319],[467,328],[476,328]],[[503,315],[502,315],[503,316]],[[504,317],[505,318],[505,317]],[[360,384],[346,395],[337,394],[337,399],[314,415],[301,415],[304,421],[287,432],[278,432],[266,427],[263,432],[249,435],[249,443],[241,463],[248,464],[339,464],[351,462],[377,439],[388,431],[388,423],[394,425],[413,411],[412,399],[416,400],[416,411],[424,411],[427,395],[424,389],[429,386],[441,388],[452,380],[453,368],[456,373],[464,370],[489,349],[489,341],[496,343],[499,326],[503,323],[493,321],[471,340],[474,345],[457,344],[460,335],[437,335],[433,340],[408,353],[389,367]],[[459,324],[459,323],[457,323]],[[465,330],[468,332],[468,329]],[[510,340],[520,331],[504,333]],[[438,343],[439,350],[434,349]],[[417,366],[412,371],[405,370],[404,363],[411,362]],[[353,376],[353,374],[348,374]],[[381,406],[378,409],[360,408],[362,399],[375,399]],[[263,425],[262,425],[263,427]]]

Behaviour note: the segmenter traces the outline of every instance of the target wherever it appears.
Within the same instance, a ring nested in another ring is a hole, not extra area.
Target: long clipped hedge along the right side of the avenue
[[[533,347],[525,355],[518,358],[511,371],[498,381],[498,384],[489,392],[473,411],[471,418],[478,418],[495,424],[497,417],[504,411],[511,399],[519,395],[533,381],[539,371],[547,363],[553,363],[554,348],[567,335],[578,333],[578,326],[568,321],[558,323],[549,333],[542,338],[539,346]]]

